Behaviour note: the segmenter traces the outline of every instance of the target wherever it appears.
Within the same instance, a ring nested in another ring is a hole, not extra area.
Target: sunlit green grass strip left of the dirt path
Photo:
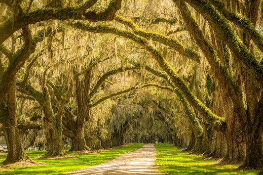
[[[11,167],[12,172],[0,172],[0,174],[8,175],[60,175],[66,172],[72,172],[78,169],[88,168],[94,165],[98,165],[107,162],[117,156],[134,151],[142,147],[142,143],[128,144],[114,150],[99,151],[102,154],[79,154],[70,153],[78,158],[67,159],[34,159],[38,162],[46,163],[43,166],[31,166],[31,167]],[[30,158],[34,158],[45,154],[45,151],[30,151],[27,152]],[[5,159],[5,156],[0,156],[0,162]]]

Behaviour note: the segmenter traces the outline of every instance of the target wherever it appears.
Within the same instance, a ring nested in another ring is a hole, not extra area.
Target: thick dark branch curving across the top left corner
[[[88,7],[90,4],[86,4],[84,6]],[[37,9],[30,13],[23,13],[22,15],[18,16],[14,22],[12,21],[12,18],[9,18],[2,23],[0,26],[0,44],[2,44],[15,31],[23,28],[26,25],[35,24],[40,21],[46,21],[50,19],[85,19],[93,22],[113,20],[114,14],[120,8],[120,6],[121,0],[111,0],[109,6],[101,12],[94,10],[80,14],[78,11],[83,11],[84,9],[84,7],[81,6],[80,8],[66,7],[62,9],[43,8]]]

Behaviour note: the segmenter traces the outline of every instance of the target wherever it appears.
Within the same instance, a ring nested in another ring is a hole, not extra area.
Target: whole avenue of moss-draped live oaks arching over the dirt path
[[[2,164],[171,142],[263,168],[262,0],[0,0]]]

